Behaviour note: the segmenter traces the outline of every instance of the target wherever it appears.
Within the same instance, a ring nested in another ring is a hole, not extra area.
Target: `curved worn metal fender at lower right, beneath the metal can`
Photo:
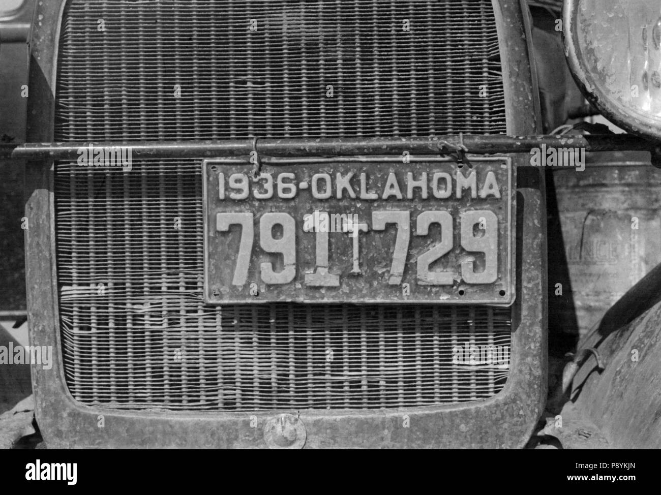
[[[661,264],[617,301],[579,349],[594,348],[573,378],[572,404],[615,448],[659,448]],[[566,406],[565,406],[566,408]]]

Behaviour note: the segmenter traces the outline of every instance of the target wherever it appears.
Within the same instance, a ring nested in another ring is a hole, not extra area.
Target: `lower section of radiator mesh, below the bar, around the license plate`
[[[508,358],[508,309],[204,305],[200,170],[194,161],[134,162],[130,172],[58,164],[73,397],[116,408],[378,408],[502,389],[508,360],[454,363],[453,349],[496,346]]]

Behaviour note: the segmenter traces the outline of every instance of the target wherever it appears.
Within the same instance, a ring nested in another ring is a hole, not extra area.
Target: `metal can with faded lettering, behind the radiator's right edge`
[[[549,240],[549,304],[559,331],[584,335],[661,262],[661,174],[588,157],[585,171],[555,171],[553,183],[561,235]]]

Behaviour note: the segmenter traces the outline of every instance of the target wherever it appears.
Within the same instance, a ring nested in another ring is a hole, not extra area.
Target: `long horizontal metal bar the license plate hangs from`
[[[256,152],[264,163],[268,157],[338,157],[352,155],[502,155],[529,153],[547,148],[580,148],[590,151],[650,151],[658,146],[629,134],[559,135],[444,135],[433,138],[366,139],[243,139],[223,141],[26,143],[0,145],[0,159],[77,160],[81,150],[130,147],[135,158],[250,157]],[[530,165],[529,161],[525,165]]]

